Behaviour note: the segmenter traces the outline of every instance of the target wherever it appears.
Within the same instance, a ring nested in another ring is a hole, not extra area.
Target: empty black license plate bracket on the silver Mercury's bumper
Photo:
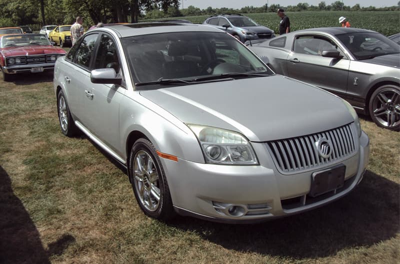
[[[311,197],[333,191],[344,185],[346,166],[339,164],[323,171],[317,171],[311,175],[311,189],[308,193]]]

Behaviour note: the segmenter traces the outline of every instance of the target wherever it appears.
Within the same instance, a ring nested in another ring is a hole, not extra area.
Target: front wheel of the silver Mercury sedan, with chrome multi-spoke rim
[[[168,220],[174,215],[164,170],[154,146],[138,139],[129,156],[129,178],[140,209],[149,217]]]

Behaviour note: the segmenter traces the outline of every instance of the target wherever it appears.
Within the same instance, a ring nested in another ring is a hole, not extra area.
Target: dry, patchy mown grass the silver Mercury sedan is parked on
[[[337,202],[257,225],[161,223],[111,159],[61,134],[52,75],[0,79],[0,263],[396,264],[400,134],[361,125],[367,172]]]

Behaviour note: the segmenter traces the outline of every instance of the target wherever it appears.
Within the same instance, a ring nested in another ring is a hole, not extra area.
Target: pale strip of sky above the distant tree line
[[[220,8],[220,7],[228,7],[239,9],[244,6],[254,6],[259,7],[266,4],[267,0],[245,0],[245,1],[232,1],[232,0],[180,0],[180,8],[182,8],[182,1],[183,1],[183,8],[186,8],[189,5],[193,5],[200,9],[205,9],[208,6],[212,8]],[[268,0],[268,4],[279,4],[282,6],[286,5],[296,5],[299,2],[306,2],[309,5],[318,5],[319,2],[322,0]],[[326,5],[335,2],[335,0],[324,0]],[[349,5],[350,7],[356,3],[359,3],[360,6],[375,6],[375,7],[383,7],[383,6],[392,6],[397,5],[398,0],[343,0],[344,5]]]

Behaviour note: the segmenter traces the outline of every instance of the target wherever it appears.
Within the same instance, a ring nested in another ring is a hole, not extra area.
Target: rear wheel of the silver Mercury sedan
[[[68,104],[62,91],[58,92],[57,111],[61,132],[67,137],[76,135],[78,130],[73,122],[71,113],[69,112]]]

